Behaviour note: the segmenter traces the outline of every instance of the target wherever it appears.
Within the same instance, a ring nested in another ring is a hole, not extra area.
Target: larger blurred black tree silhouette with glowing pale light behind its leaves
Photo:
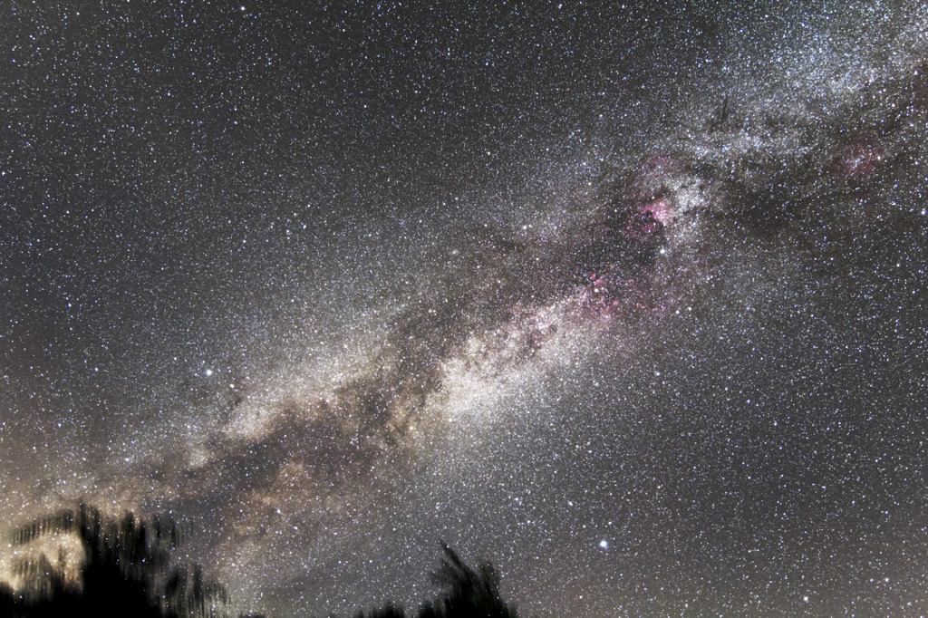
[[[16,574],[23,588],[19,594],[0,590],[0,608],[12,608],[4,615],[179,618],[213,616],[227,602],[225,588],[204,578],[199,566],[189,573],[170,565],[170,549],[181,539],[173,521],[146,521],[132,513],[110,520],[81,505],[23,526],[13,545],[27,546],[51,534],[71,534],[80,542],[84,556],[78,581],[66,581],[63,550],[57,565],[45,555],[20,559]]]

